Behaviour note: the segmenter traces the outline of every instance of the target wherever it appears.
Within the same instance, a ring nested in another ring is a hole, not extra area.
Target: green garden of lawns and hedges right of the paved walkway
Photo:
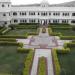
[[[59,36],[62,40],[72,40],[70,43],[65,43],[62,50],[53,50],[53,61],[56,75],[75,75],[75,26],[51,24],[49,35]]]

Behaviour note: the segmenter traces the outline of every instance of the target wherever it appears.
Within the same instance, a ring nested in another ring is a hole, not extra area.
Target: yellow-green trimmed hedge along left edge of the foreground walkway
[[[33,61],[34,51],[30,50],[27,58],[25,59],[25,66],[23,69],[23,75],[30,75],[30,69]]]

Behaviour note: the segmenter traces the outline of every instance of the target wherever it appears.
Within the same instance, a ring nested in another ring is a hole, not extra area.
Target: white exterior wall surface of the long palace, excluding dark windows
[[[2,7],[2,4],[5,5],[5,7]],[[8,7],[9,4],[9,7]],[[46,6],[42,7],[43,4]],[[13,12],[17,12],[17,16],[13,16]],[[20,12],[26,12],[26,15],[20,15]],[[35,12],[35,15],[29,15],[29,12]],[[40,15],[38,15],[38,12]],[[42,12],[47,12],[47,16],[41,16]],[[51,15],[49,15],[49,12]],[[49,20],[51,23],[53,23],[53,20],[59,20],[59,23],[62,23],[62,20],[68,20],[69,24],[71,23],[71,20],[75,20],[75,16],[72,16],[72,13],[75,12],[75,7],[50,7],[47,3],[41,3],[40,6],[18,6],[18,5],[11,5],[11,2],[0,2],[0,24],[3,24],[3,22],[7,22],[7,25],[10,24],[18,24],[20,23],[20,20],[27,20],[27,23],[29,23],[30,19],[35,19],[35,23],[38,23],[38,20],[40,23],[42,23],[44,20],[47,20],[47,24],[49,23]],[[6,14],[6,16],[3,16],[3,14]],[[10,13],[10,16],[9,16]],[[59,16],[54,16],[53,13],[60,13]],[[69,16],[63,16],[63,13],[69,13]],[[18,22],[14,23],[14,20],[17,19]]]

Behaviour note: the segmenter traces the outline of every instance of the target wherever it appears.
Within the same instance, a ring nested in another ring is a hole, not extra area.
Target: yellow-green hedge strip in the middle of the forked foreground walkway
[[[46,75],[46,58],[45,57],[41,57],[39,58],[39,70],[38,70],[38,75]]]

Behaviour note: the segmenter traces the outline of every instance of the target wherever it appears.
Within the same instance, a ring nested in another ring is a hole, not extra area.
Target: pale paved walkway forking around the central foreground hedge
[[[33,60],[33,66],[32,66],[32,70],[31,70],[31,75],[37,75],[38,60],[42,56],[46,57],[46,59],[47,59],[48,75],[54,75],[52,56],[51,56],[51,50],[50,49],[36,49],[34,60]]]

